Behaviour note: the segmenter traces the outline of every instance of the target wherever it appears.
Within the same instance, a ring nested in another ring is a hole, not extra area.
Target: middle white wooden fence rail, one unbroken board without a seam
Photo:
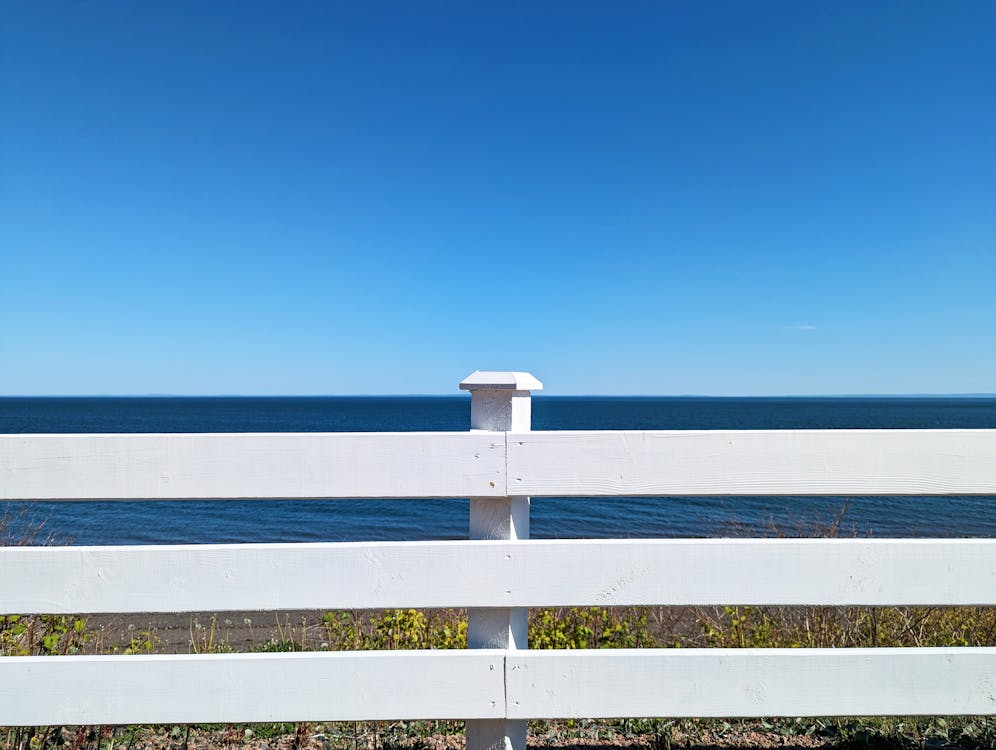
[[[0,614],[635,604],[996,605],[996,540],[7,547],[0,548],[0,603]],[[524,643],[524,634],[518,640]]]

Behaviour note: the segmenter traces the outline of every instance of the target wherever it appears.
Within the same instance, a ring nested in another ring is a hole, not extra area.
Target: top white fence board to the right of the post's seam
[[[508,435],[508,494],[996,494],[996,430]]]

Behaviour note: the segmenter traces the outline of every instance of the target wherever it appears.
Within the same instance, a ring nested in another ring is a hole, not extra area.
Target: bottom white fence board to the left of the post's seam
[[[0,726],[498,718],[504,652],[0,658]]]

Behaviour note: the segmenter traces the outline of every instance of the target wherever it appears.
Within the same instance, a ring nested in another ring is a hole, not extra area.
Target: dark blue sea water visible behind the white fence
[[[0,433],[464,430],[455,397],[0,398]],[[996,428],[996,398],[557,398],[533,429]],[[843,510],[843,515],[841,512]],[[10,503],[74,544],[459,539],[459,500]],[[996,498],[599,498],[533,501],[534,537],[996,536]]]

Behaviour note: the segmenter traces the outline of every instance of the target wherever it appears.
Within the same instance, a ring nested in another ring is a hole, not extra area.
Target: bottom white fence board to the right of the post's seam
[[[996,648],[516,651],[513,718],[996,714]]]

